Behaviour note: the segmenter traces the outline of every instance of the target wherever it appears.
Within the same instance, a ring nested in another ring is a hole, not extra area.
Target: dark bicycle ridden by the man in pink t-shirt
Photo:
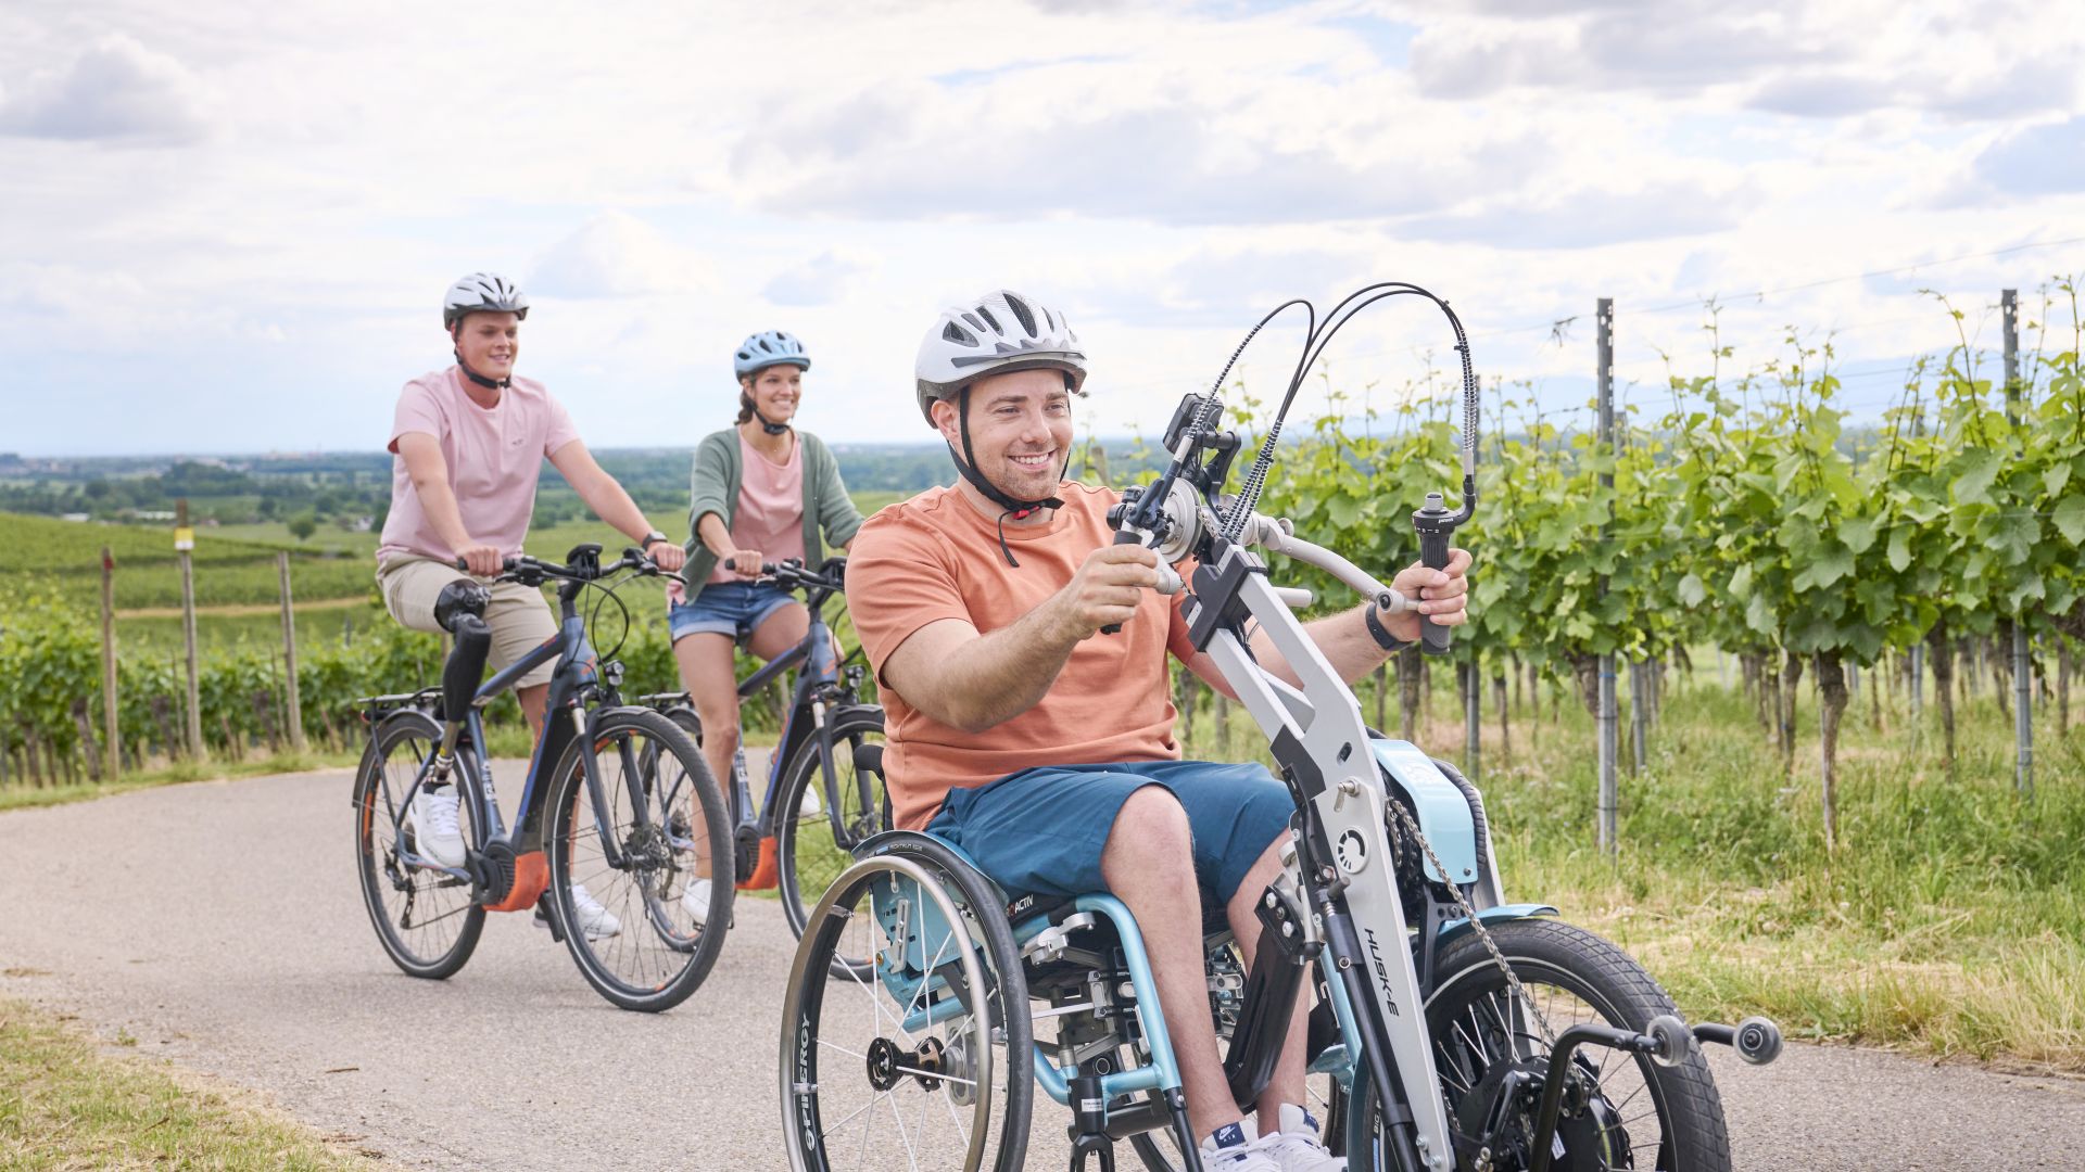
[[[555,638],[484,680],[492,646],[482,617],[486,594],[461,588],[450,607],[436,611],[455,634],[442,684],[354,701],[369,724],[354,774],[369,920],[400,970],[442,980],[469,961],[486,911],[538,907],[594,991],[623,1009],[671,1009],[694,993],[723,947],[723,932],[703,930],[680,907],[694,859],[703,851],[721,855],[730,840],[723,799],[673,722],[621,705],[621,663],[594,653],[578,607],[588,586],[615,599],[617,586],[657,567],[636,548],[603,563],[598,544],[573,546],[565,563],[509,557],[502,565],[500,582],[557,582]],[[600,586],[623,571],[632,576]],[[494,795],[482,707],[553,659],[542,736],[509,828]],[[457,868],[421,855],[407,822],[413,797],[446,782],[461,788],[465,861]],[[613,932],[582,920],[575,886],[590,888],[615,920]],[[705,922],[726,924],[730,907],[732,888],[715,884]]]

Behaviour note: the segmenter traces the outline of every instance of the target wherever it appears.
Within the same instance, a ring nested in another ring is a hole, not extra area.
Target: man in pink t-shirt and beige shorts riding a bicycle
[[[565,407],[540,382],[513,373],[525,317],[528,296],[509,279],[496,273],[459,279],[442,304],[457,363],[419,375],[398,394],[386,442],[394,455],[392,509],[377,546],[377,586],[392,617],[413,630],[442,632],[436,621],[442,596],[471,584],[457,569],[459,557],[471,576],[492,578],[500,559],[521,553],[544,459],[594,515],[644,546],[661,569],[682,567],[680,544],[655,530],[623,486],[594,463]],[[500,582],[490,596],[484,617],[492,628],[494,672],[557,634],[540,590]],[[538,736],[550,672],[544,663],[515,684]],[[450,786],[423,788],[409,817],[427,857],[463,865]],[[600,918],[613,920],[607,911]],[[600,934],[594,922],[588,932]]]

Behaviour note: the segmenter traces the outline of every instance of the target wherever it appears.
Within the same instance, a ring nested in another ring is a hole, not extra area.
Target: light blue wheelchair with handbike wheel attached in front
[[[1670,1034],[1683,1028],[1670,999],[1612,945],[1551,920],[1555,909],[1497,903],[1474,786],[1405,742],[1374,749],[1393,803],[1437,851],[1428,857],[1409,832],[1389,836],[1393,865],[1418,893],[1407,922],[1432,926],[1412,930],[1407,945],[1441,1089],[1468,1141],[1443,1166],[1535,1166],[1526,1147],[1557,1045],[1543,1053],[1468,918],[1434,899],[1437,861],[1470,878],[1466,899],[1478,897],[1478,920],[1537,991],[1545,1018],[1568,1018],[1570,1030],[1658,1030],[1674,1043],[1670,1066],[1653,1053],[1620,1066],[1566,1055],[1568,1074],[1553,1082],[1570,1084],[1570,1109],[1557,1109],[1549,1166],[1726,1168],[1714,1159],[1714,1149],[1726,1151],[1720,1103],[1697,1047]],[[1397,828],[1403,817],[1389,822]],[[790,972],[780,1089],[792,1168],[1024,1168],[1038,1086],[1070,1112],[1070,1168],[1111,1170],[1118,1143],[1151,1170],[1199,1168],[1143,934],[1118,899],[1009,895],[957,847],[922,832],[878,834],[855,859],[813,907]],[[1284,851],[1284,863],[1257,903],[1261,951],[1251,972],[1222,909],[1205,911],[1224,1076],[1241,1112],[1251,1112],[1297,997],[1314,991],[1305,1107],[1353,1168],[1395,1168],[1382,1151],[1380,1097],[1359,1061],[1357,1016],[1343,982],[1328,980],[1330,955],[1299,901],[1295,855]],[[1733,1041],[1718,1030],[1731,1032],[1695,1026],[1706,1041]],[[1779,1049],[1779,1034],[1770,1043]],[[1766,1045],[1760,1034],[1756,1049]],[[1645,1101],[1655,1103],[1649,1114]]]

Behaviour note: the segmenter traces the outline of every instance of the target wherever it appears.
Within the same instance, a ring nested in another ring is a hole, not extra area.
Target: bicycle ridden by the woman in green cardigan
[[[890,803],[882,782],[884,709],[861,701],[867,688],[861,649],[838,659],[826,624],[826,605],[847,588],[847,559],[828,557],[815,571],[796,559],[761,563],[761,576],[801,590],[811,626],[803,642],[738,684],[738,699],[744,701],[784,672],[803,667],[782,719],[782,736],[767,761],[767,788],[759,807],[753,805],[744,749],[732,761],[726,786],[732,874],[740,890],[780,888],[782,913],[790,932],[801,936],[807,903],[853,863],[857,845],[890,830]],[[703,722],[688,692],[655,692],[636,703],[663,713],[696,744],[703,742]]]

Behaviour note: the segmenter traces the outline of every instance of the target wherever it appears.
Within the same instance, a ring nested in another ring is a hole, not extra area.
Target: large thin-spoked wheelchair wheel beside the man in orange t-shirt
[[[932,838],[880,849],[811,907],[790,968],[790,1168],[1013,1172],[1028,1149],[1032,1053],[999,893]]]

